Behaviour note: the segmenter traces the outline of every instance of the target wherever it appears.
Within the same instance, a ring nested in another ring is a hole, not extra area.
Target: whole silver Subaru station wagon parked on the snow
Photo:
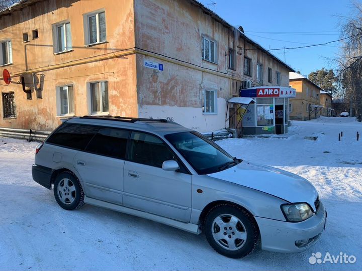
[[[327,212],[295,174],[232,157],[199,132],[164,119],[65,120],[35,152],[33,179],[66,210],[84,203],[195,234],[233,258],[256,248],[299,252]]]

